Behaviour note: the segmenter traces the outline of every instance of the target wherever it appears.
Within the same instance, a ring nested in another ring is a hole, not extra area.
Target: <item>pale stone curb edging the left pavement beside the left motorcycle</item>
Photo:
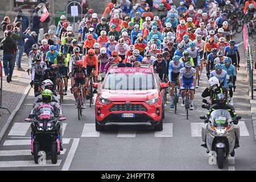
[[[23,101],[27,97],[28,92],[30,92],[31,86],[28,85],[26,90],[22,94],[22,98],[20,98],[19,103],[16,105],[15,109],[11,112],[11,115],[7,119],[5,126],[3,126],[3,129],[0,131],[0,142],[3,138],[3,135],[5,135],[7,129],[9,128],[11,122],[13,121],[13,118],[15,117],[15,114],[18,112],[20,106],[22,105]]]

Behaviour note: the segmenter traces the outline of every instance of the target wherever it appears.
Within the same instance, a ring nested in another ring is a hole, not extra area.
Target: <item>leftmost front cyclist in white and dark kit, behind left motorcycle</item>
[[[31,65],[32,73],[31,73],[31,82],[30,85],[32,86],[35,84],[35,89],[34,93],[35,96],[38,94],[39,90],[39,82],[40,82],[40,77],[42,76],[44,70],[47,69],[47,65],[44,61],[42,61],[42,55],[37,54],[35,55],[35,62],[32,63]]]

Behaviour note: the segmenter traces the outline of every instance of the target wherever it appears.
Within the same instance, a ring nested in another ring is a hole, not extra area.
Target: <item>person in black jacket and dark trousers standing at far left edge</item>
[[[10,82],[13,76],[14,53],[17,51],[16,42],[11,38],[11,31],[7,32],[7,36],[2,40],[0,49],[3,50],[3,69],[5,71],[6,81]]]

